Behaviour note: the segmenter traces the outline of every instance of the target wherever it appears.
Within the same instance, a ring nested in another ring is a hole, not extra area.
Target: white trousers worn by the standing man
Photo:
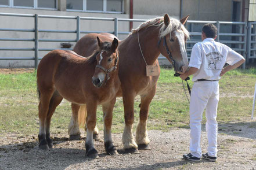
[[[208,155],[217,157],[218,123],[217,108],[219,102],[219,82],[203,81],[194,82],[190,97],[190,153],[201,157],[200,147],[201,120],[205,110],[206,131],[208,137]]]

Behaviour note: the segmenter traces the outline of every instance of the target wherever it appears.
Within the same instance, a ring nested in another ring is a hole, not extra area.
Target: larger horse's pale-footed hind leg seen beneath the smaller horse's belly
[[[68,126],[68,134],[70,140],[78,140],[80,139],[80,130],[79,130],[79,124],[78,124],[78,110],[80,109],[80,105],[71,104],[72,108],[72,116],[70,119],[70,123]]]

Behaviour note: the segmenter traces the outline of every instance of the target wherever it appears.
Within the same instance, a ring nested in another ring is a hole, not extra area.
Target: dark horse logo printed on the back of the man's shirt
[[[221,65],[221,61],[222,61],[222,54],[219,52],[211,52],[206,54],[206,58],[207,58],[207,63],[208,63],[208,70],[221,70],[222,69],[222,65]]]

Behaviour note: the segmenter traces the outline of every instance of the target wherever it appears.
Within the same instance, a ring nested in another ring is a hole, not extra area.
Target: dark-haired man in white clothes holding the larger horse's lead
[[[200,161],[200,158],[210,161],[217,160],[216,121],[219,102],[218,81],[226,72],[237,68],[245,61],[243,56],[222,43],[215,42],[217,27],[214,24],[205,24],[202,28],[202,42],[193,46],[189,69],[181,79],[193,75],[193,88],[190,97],[190,153],[184,154],[185,160]],[[225,63],[229,65],[223,68]],[[200,148],[201,120],[204,109],[206,131],[208,137],[207,153],[202,154]]]

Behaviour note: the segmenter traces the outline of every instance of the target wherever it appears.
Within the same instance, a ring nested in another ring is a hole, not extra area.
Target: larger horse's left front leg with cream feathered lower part
[[[122,100],[124,103],[124,120],[125,127],[122,134],[122,143],[124,149],[130,153],[139,153],[138,146],[134,141],[134,135],[132,134],[132,126],[134,124],[134,99],[135,95],[130,91],[128,93],[122,93]]]

